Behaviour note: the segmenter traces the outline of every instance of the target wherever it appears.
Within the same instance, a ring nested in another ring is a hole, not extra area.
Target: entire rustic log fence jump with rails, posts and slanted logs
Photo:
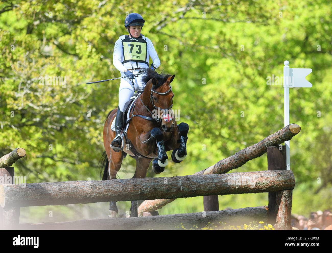
[[[114,179],[106,181],[67,181],[0,185],[0,227],[19,229],[174,229],[180,225],[205,227],[208,222],[228,221],[243,224],[264,220],[275,224],[276,229],[290,229],[292,190],[295,178],[285,170],[285,154],[276,146],[291,139],[300,131],[296,124],[271,134],[260,142],[222,159],[213,166],[194,175],[169,178]],[[271,147],[270,147],[271,146]],[[242,166],[249,160],[268,152],[268,170],[224,174]],[[25,156],[17,148],[0,158],[0,165],[11,166]],[[1,166],[0,166],[1,167]],[[0,176],[14,177],[14,169],[0,168]],[[218,210],[218,195],[269,193],[269,205],[229,211]],[[146,200],[139,213],[156,213],[155,210],[176,198],[204,196],[203,213],[156,215],[132,218],[107,218],[67,222],[19,224],[19,208],[84,204],[109,201]]]

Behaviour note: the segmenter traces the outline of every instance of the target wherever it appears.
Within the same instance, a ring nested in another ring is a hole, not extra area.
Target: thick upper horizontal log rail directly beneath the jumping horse
[[[290,170],[269,170],[169,178],[67,181],[0,185],[0,205],[11,207],[108,201],[174,199],[208,195],[275,192],[295,186]]]

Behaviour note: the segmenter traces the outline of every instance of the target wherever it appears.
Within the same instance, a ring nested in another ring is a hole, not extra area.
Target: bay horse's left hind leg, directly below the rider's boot
[[[124,158],[124,152],[115,152],[110,148],[111,155],[109,157],[108,180],[116,179],[117,173],[121,168]],[[110,217],[117,217],[119,212],[116,201],[110,201]]]

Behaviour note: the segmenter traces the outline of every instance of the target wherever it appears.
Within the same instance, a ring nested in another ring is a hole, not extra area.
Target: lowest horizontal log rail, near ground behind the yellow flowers
[[[84,229],[101,229],[101,230],[135,230],[135,229],[176,229],[183,225],[185,228],[194,229],[206,227],[208,222],[213,223],[213,228],[223,228],[219,222],[226,222],[227,225],[241,225],[253,220],[267,221],[267,207],[247,207],[225,211],[210,211],[182,214],[168,214],[147,217],[131,218],[105,218],[90,220],[75,220],[65,222],[44,222],[36,224],[20,224],[18,229],[27,230],[84,230]],[[182,223],[182,224],[181,224]],[[211,225],[211,224],[209,224]],[[217,227],[214,227],[217,226]]]

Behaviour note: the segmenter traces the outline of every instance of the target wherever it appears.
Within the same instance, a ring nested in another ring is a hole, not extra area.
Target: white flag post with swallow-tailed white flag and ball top
[[[312,72],[311,68],[290,68],[289,61],[284,61],[284,124],[290,124],[290,88],[293,87],[312,87],[305,77]],[[285,141],[286,145],[286,164],[290,170],[290,141]]]

